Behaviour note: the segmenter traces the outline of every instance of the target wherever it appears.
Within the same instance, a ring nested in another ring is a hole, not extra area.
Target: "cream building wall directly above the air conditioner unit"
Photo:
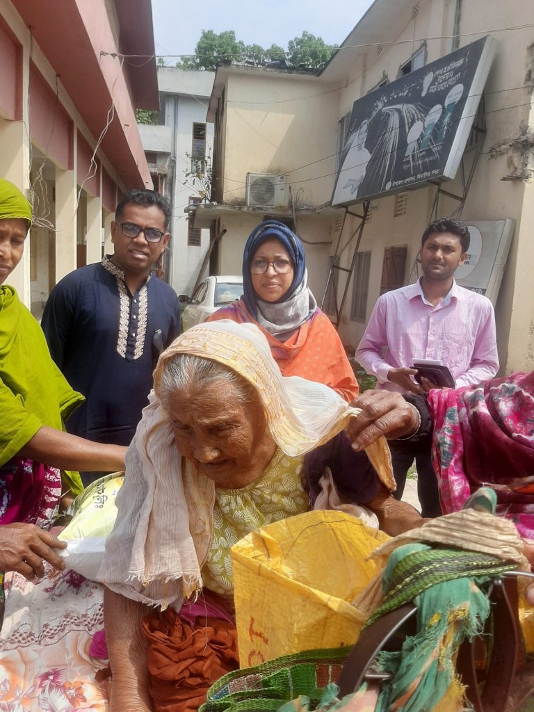
[[[325,100],[325,91],[315,76],[232,68],[226,85],[225,204],[244,204],[248,172],[288,174],[296,207],[330,199],[337,100]]]

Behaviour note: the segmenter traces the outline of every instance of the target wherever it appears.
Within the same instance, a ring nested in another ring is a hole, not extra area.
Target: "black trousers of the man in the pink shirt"
[[[417,467],[417,496],[421,503],[421,513],[424,517],[439,517],[441,515],[441,505],[439,503],[438,480],[429,451],[421,446],[414,446],[412,450],[391,451],[393,474],[397,481],[397,491],[393,493],[394,498],[402,499],[404,486],[406,485],[407,472],[415,460]]]

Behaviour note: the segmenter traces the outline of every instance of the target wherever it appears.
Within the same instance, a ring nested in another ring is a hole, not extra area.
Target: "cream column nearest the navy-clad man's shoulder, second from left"
[[[56,284],[76,268],[77,198],[75,170],[56,166]]]

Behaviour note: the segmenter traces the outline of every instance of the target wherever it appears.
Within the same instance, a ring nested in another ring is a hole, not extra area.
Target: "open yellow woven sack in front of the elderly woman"
[[[350,605],[382,569],[389,537],[340,511],[266,525],[232,547],[241,668],[355,643],[367,616]]]

